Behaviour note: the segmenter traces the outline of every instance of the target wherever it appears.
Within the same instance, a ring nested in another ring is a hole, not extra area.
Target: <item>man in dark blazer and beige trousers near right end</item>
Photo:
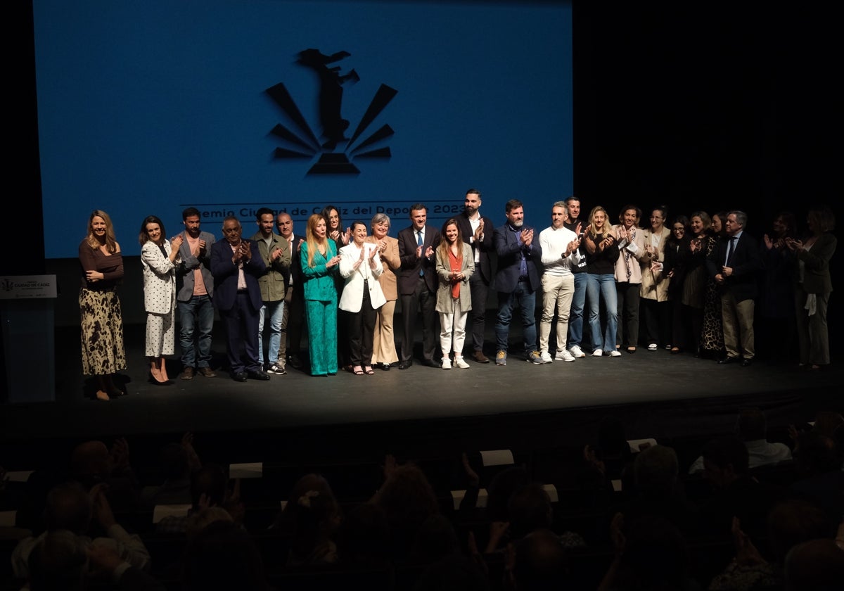
[[[757,241],[744,232],[747,214],[731,211],[724,227],[727,236],[717,243],[706,260],[706,268],[718,285],[721,321],[727,356],[718,363],[753,363],[755,355],[753,316],[757,277],[762,263]]]

